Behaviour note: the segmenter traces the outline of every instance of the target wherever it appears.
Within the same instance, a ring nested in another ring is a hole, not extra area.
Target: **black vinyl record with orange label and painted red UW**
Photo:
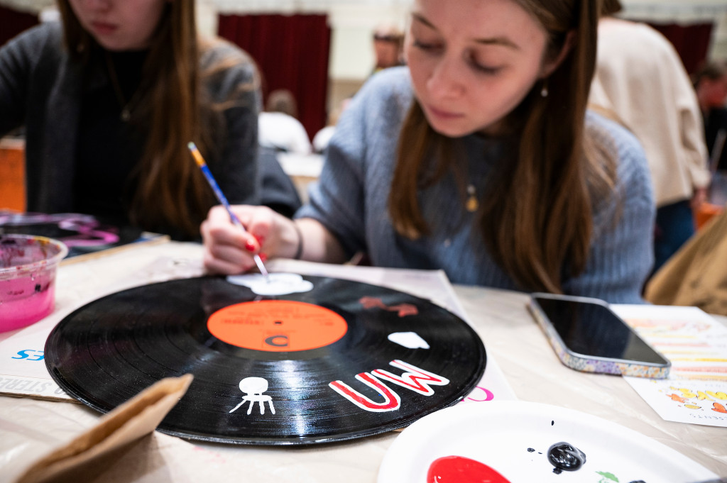
[[[451,312],[376,285],[303,278],[312,290],[285,296],[222,277],[114,293],[56,326],[47,368],[104,413],[161,378],[192,373],[158,430],[246,445],[399,429],[480,381],[484,346]]]

